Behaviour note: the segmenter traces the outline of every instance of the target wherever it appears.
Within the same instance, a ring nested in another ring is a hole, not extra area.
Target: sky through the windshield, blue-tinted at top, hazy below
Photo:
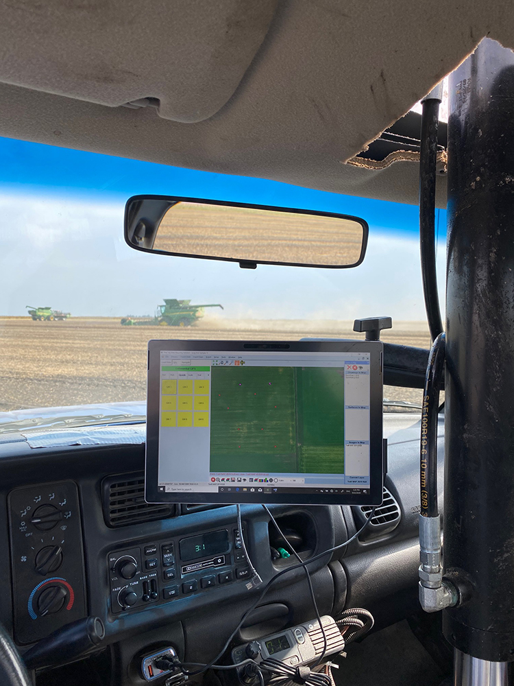
[[[417,206],[12,139],[0,138],[0,162],[0,315],[25,314],[25,305],[76,316],[151,314],[162,298],[178,297],[223,303],[229,318],[424,318]],[[123,241],[123,206],[138,193],[358,215],[370,226],[367,257],[352,270],[260,265],[249,272],[143,255]],[[443,283],[445,211],[438,224]]]

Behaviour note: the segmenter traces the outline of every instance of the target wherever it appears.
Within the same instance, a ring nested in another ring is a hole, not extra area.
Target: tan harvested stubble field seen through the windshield
[[[146,397],[147,342],[152,338],[206,340],[362,339],[352,322],[230,320],[206,317],[194,327],[122,327],[119,318],[34,322],[0,318],[0,411]],[[424,322],[395,322],[383,340],[430,345]],[[421,402],[421,390],[387,386],[384,396]]]

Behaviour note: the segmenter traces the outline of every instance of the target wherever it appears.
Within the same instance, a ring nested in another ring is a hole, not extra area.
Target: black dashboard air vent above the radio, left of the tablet
[[[103,516],[110,527],[140,524],[155,519],[167,519],[175,514],[175,505],[145,502],[143,472],[119,474],[102,482]]]

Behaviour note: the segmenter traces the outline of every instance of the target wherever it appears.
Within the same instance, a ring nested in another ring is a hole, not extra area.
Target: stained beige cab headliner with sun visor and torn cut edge
[[[485,35],[514,3],[0,0],[0,135],[415,203],[415,162],[343,162]]]

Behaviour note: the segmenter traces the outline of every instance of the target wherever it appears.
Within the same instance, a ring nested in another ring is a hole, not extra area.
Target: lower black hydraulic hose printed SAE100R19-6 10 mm
[[[439,514],[437,510],[437,415],[445,351],[445,334],[439,333],[428,356],[421,413],[420,487],[423,517],[437,517]]]

